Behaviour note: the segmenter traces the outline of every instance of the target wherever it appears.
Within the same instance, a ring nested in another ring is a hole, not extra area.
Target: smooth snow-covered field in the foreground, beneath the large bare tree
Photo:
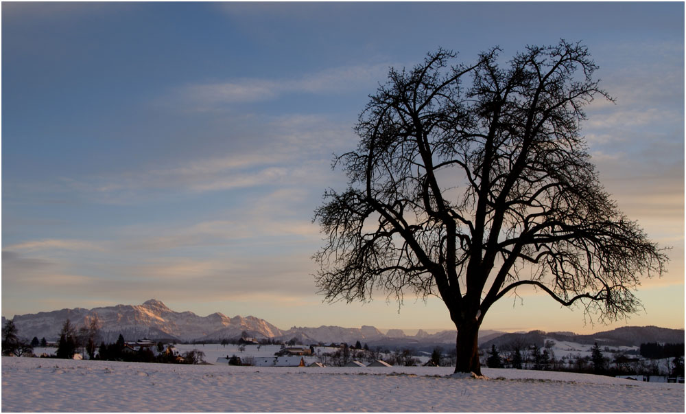
[[[684,385],[451,368],[277,368],[2,358],[2,411],[684,411]]]

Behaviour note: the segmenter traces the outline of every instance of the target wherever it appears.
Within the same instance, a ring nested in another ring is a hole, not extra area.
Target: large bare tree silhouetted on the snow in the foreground
[[[506,67],[498,53],[450,66],[456,55],[439,50],[391,69],[359,117],[359,146],[334,159],[348,188],[315,212],[325,300],[440,297],[457,372],[480,373],[479,327],[518,288],[613,321],[667,261],[604,191],[580,136],[584,105],[611,100],[587,48],[530,46]]]

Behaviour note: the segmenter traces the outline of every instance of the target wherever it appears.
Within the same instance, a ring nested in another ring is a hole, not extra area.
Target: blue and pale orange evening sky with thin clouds
[[[439,299],[322,303],[322,194],[390,67],[581,41],[616,104],[582,124],[660,246],[644,309],[598,325],[518,290],[482,329],[684,327],[684,4],[13,3],[2,13],[2,315],[163,301],[292,326],[454,329]]]

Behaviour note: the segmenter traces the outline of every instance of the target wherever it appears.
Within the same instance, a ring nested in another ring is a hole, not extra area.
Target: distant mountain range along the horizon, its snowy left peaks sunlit
[[[360,341],[370,347],[414,347],[431,349],[436,345],[453,345],[456,339],[454,330],[429,334],[419,330],[415,335],[406,335],[402,330],[388,330],[385,334],[373,326],[340,327],[292,327],[281,330],[263,319],[256,317],[233,318],[219,312],[200,317],[193,312],[175,312],[161,301],[150,299],[141,305],[117,305],[102,308],[62,309],[52,312],[16,315],[13,319],[19,335],[25,338],[45,337],[56,341],[64,321],[69,319],[77,328],[87,325],[93,318],[99,319],[101,338],[105,342],[116,341],[122,334],[127,341],[150,338],[156,341],[208,341],[220,342],[222,339],[236,339],[246,332],[249,336],[274,341],[296,340],[309,343],[355,343]],[[3,325],[5,318],[2,318]],[[536,343],[545,332],[532,331],[528,334],[507,334],[494,330],[482,330],[479,342],[499,345],[504,341],[520,340]],[[517,336],[520,335],[520,336]],[[545,334],[559,337],[560,341],[572,340],[578,343],[602,341],[607,345],[635,346],[645,342],[683,342],[683,330],[668,330],[661,327],[620,327],[616,330],[591,335],[576,335],[571,332]],[[680,336],[681,335],[681,336]],[[676,338],[681,337],[681,340]],[[533,341],[533,342],[532,342]]]

